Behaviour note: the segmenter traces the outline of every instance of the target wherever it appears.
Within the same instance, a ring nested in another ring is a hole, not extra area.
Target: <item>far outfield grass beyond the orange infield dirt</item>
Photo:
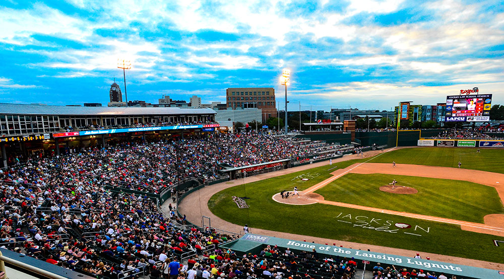
[[[428,165],[456,168],[462,162],[462,168],[480,171],[504,173],[504,149],[480,148],[481,153],[476,153],[476,148],[454,147],[423,147],[404,148],[387,152],[372,160],[372,163]]]

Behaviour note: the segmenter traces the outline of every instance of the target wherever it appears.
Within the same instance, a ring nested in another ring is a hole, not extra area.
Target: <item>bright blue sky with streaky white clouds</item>
[[[106,103],[117,59],[128,100],[225,102],[274,87],[289,110],[435,105],[478,87],[504,104],[501,1],[0,2],[0,102]]]

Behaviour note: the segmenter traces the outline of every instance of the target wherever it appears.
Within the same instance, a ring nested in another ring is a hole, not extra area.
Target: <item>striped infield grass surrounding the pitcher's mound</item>
[[[397,185],[415,188],[418,193],[399,195],[380,190],[393,179]],[[495,188],[459,180],[349,173],[316,193],[326,200],[476,223],[483,223],[487,214],[504,214]]]

